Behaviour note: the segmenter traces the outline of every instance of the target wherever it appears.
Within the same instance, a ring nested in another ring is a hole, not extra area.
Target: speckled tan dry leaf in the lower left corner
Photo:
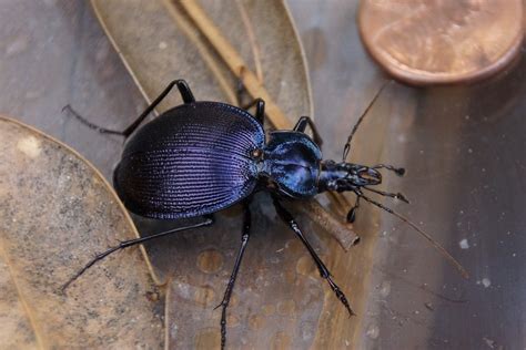
[[[139,249],[61,286],[94,253],[136,236],[103,177],[75,152],[0,117],[0,348],[161,348]]]

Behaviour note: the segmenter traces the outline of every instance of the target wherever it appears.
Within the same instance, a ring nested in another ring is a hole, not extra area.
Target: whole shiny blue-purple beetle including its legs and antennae
[[[122,241],[119,246],[97,255],[63,286],[63,289],[111,253],[181,230],[210,226],[213,224],[213,213],[241,203],[243,206],[241,247],[223,300],[218,306],[222,308],[221,347],[224,348],[226,309],[250,238],[250,203],[253,193],[267,191],[271,194],[277,215],[302,240],[322,278],[328,282],[350,315],[354,312],[347,298],[334,282],[327,267],[294,217],[283,206],[284,198],[310,198],[325,191],[350,191],[356,194],[356,203],[348,212],[348,222],[354,222],[360,199],[363,198],[398,216],[432,240],[413,223],[363,193],[365,189],[407,202],[399,193],[386,193],[371,187],[382,182],[380,168],[395,172],[397,175],[404,174],[403,168],[384,164],[364,166],[345,162],[354,133],[385,85],[376,93],[351,132],[341,163],[322,159],[322,140],[310,117],[302,116],[292,131],[270,132],[266,140],[263,130],[265,106],[263,100],[254,100],[246,106],[246,109],[255,106],[253,116],[245,109],[225,103],[195,101],[183,80],[171,82],[122,132],[94,125],[71,107],[67,109],[83,124],[101,133],[118,134],[128,138],[174,86],[179,89],[184,103],[146,123],[127,142],[121,162],[113,173],[113,185],[125,207],[138,215],[169,220],[202,216],[203,222]],[[312,131],[313,138],[305,133],[307,126]],[[445,253],[441,246],[434,241],[432,244]],[[456,264],[453,257],[447,253],[445,255]]]

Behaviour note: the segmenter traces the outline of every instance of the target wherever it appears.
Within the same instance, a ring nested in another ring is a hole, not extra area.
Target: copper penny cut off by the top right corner
[[[373,59],[412,84],[474,81],[520,51],[522,0],[363,0],[362,40]]]

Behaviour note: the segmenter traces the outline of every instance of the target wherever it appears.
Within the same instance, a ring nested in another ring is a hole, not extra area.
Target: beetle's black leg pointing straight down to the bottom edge
[[[243,203],[243,228],[241,230],[241,247],[235,258],[234,270],[230,276],[229,285],[223,295],[223,300],[215,308],[221,307],[221,349],[224,349],[226,343],[226,308],[229,307],[230,298],[232,297],[232,290],[234,289],[235,278],[237,277],[237,271],[240,270],[241,259],[245,253],[246,244],[250,238],[250,227],[251,227],[251,212],[250,212],[250,199],[246,199]]]

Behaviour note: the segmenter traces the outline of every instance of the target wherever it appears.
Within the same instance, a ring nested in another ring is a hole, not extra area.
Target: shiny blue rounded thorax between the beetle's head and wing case
[[[321,161],[320,147],[304,133],[272,132],[260,161],[260,176],[283,195],[312,197],[318,193]]]

